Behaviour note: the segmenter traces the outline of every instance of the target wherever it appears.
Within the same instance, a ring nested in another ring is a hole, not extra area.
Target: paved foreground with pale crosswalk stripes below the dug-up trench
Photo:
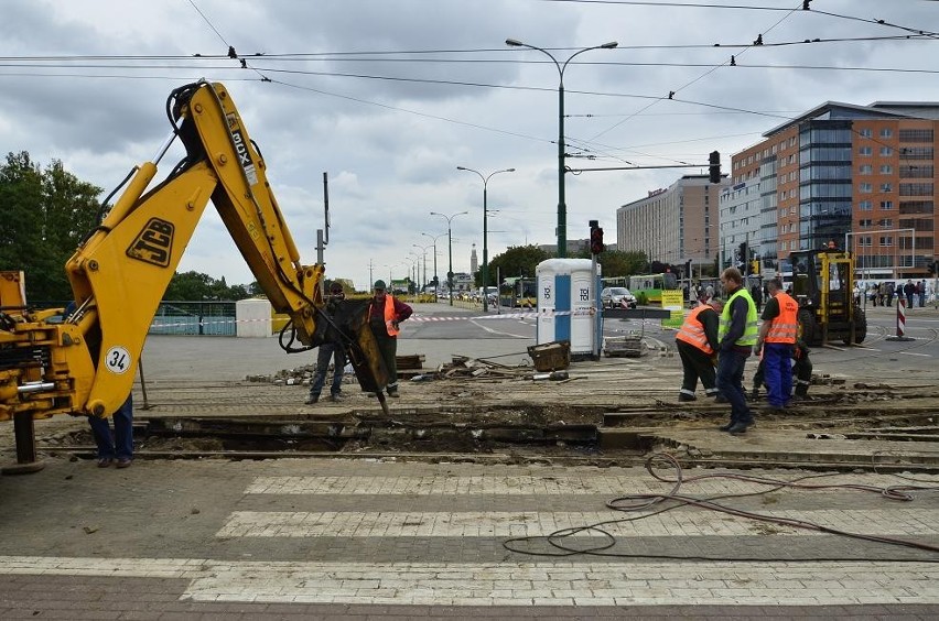
[[[680,493],[781,521],[608,509],[674,488],[638,468],[54,458],[0,478],[0,618],[939,614],[939,556],[893,543],[939,545],[939,477],[702,472]],[[932,489],[878,493],[897,484]]]

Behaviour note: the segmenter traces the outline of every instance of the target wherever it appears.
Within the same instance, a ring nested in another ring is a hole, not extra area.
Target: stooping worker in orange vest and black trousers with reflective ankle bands
[[[717,351],[717,326],[724,301],[712,297],[708,304],[695,306],[688,314],[674,337],[684,377],[681,380],[679,401],[694,401],[698,380],[704,385],[706,396],[717,396],[714,356]]]

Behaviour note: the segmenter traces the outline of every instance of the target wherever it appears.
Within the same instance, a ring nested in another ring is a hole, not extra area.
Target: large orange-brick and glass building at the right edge
[[[769,130],[731,157],[722,246],[746,242],[766,275],[787,271],[794,250],[834,241],[870,277],[925,276],[935,257],[937,122],[939,103],[829,101]]]

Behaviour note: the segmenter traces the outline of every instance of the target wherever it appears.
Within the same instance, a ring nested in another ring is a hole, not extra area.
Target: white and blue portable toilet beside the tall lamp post
[[[590,259],[548,259],[535,269],[538,293],[536,340],[566,340],[571,357],[594,357],[600,350],[600,264]]]

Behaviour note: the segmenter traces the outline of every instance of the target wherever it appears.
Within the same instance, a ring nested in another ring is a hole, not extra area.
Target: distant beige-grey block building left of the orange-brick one
[[[684,175],[668,188],[623,205],[616,210],[616,249],[643,251],[650,262],[682,265],[691,261],[695,272],[713,265],[720,254],[719,199],[728,183]]]

